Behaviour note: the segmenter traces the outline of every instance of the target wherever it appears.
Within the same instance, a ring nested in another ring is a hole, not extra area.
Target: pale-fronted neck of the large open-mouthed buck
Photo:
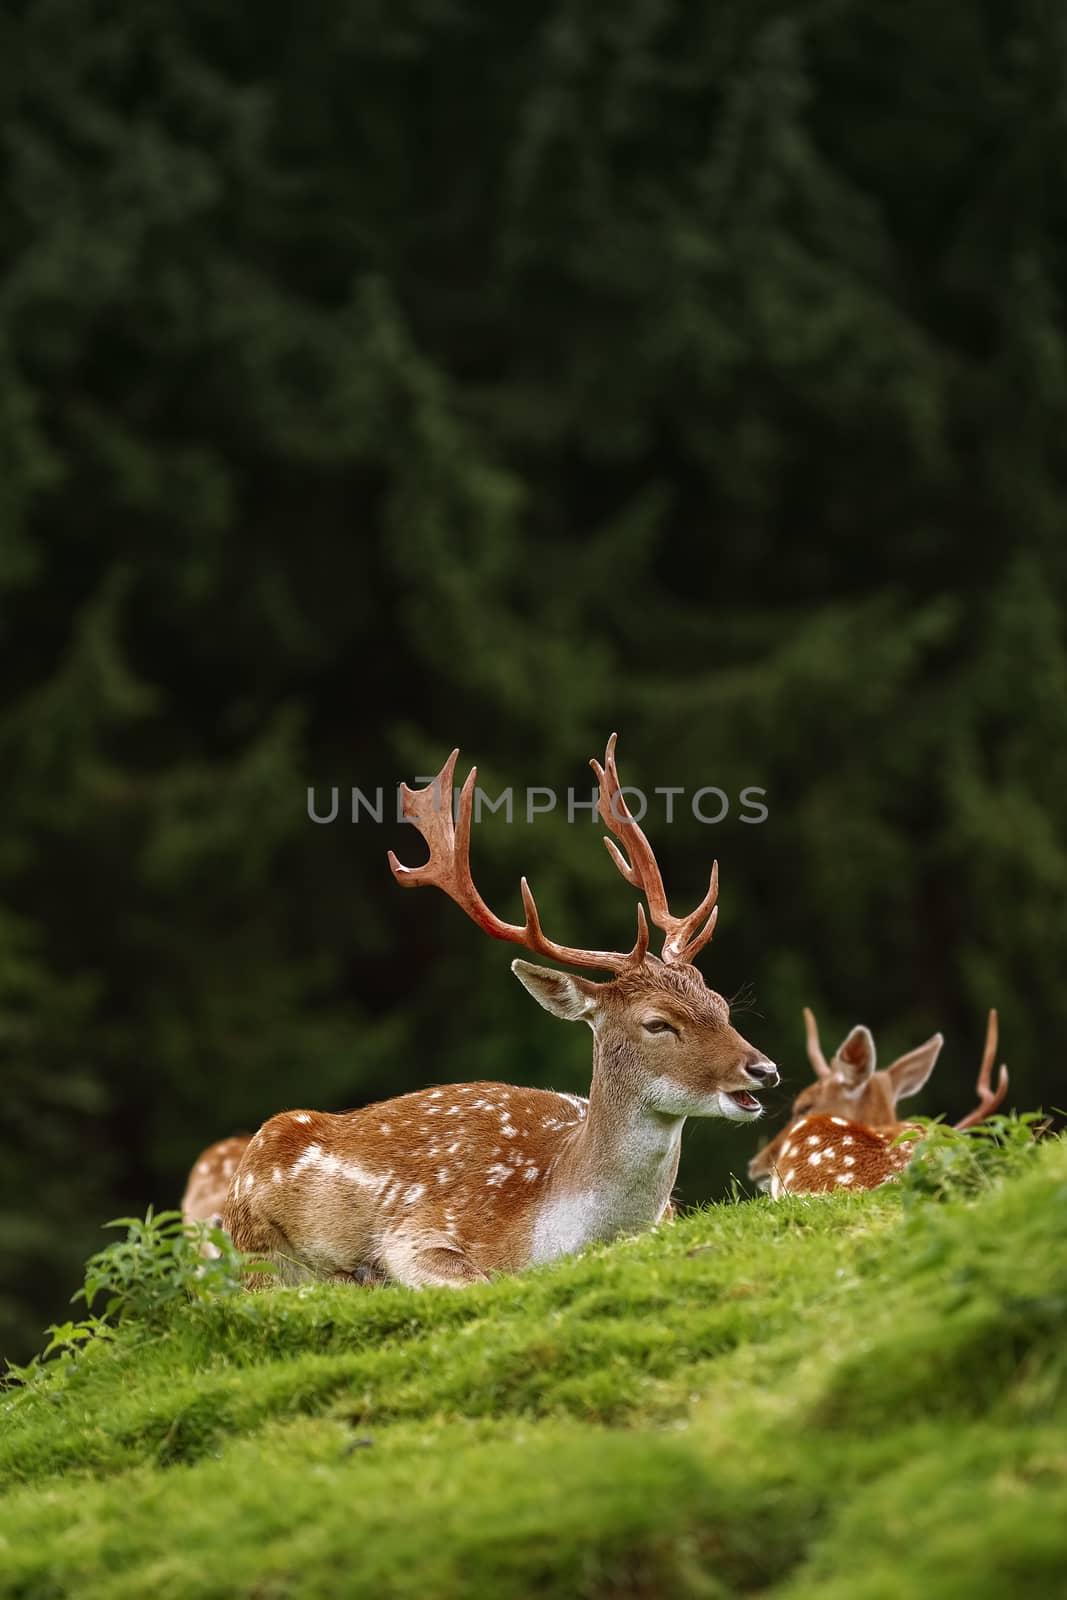
[[[678,1173],[685,1117],[645,1106],[635,1074],[597,1040],[589,1112],[568,1134],[534,1224],[533,1259],[651,1227]]]

